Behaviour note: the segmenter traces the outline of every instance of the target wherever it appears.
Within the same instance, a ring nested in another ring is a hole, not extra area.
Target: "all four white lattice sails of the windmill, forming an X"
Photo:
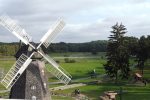
[[[26,45],[29,45],[32,50],[30,57],[22,54],[19,59],[15,62],[12,68],[8,71],[6,76],[2,79],[1,83],[7,88],[10,89],[21,74],[25,71],[27,66],[31,63],[31,57],[34,55],[34,52],[40,53],[43,58],[45,58],[51,66],[46,66],[48,71],[51,72],[55,77],[57,77],[64,84],[68,84],[71,81],[71,75],[61,68],[51,57],[43,54],[39,51],[40,46],[43,44],[46,48],[51,44],[52,40],[56,35],[63,29],[65,23],[62,19],[59,19],[56,24],[48,30],[48,32],[40,40],[38,47],[35,47],[30,43],[31,37],[22,29],[19,25],[15,23],[10,17],[3,15],[0,16],[0,24],[12,32],[17,38],[19,38]]]

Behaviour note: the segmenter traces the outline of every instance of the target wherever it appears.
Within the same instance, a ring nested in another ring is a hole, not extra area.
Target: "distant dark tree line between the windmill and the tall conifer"
[[[44,51],[50,52],[106,52],[108,41],[98,40],[86,43],[52,43]]]

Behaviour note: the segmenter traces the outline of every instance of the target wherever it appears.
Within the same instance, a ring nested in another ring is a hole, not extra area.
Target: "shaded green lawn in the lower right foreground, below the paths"
[[[80,91],[82,94],[88,96],[90,100],[98,100],[100,95],[103,95],[104,91],[119,91],[120,87],[122,90],[125,91],[122,94],[122,100],[149,100],[150,94],[150,86],[126,86],[126,85],[116,85],[114,83],[105,83],[99,85],[87,85],[80,87]],[[71,93],[75,90],[68,89],[68,90],[59,90],[57,93]],[[119,100],[119,96],[117,96],[117,100]]]

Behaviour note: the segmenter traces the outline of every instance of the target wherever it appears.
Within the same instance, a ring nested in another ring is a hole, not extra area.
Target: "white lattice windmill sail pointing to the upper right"
[[[43,44],[47,48],[64,26],[65,22],[62,18],[60,18],[56,22],[56,24],[51,29],[49,29],[48,32],[42,37],[42,39],[40,40],[41,44]]]

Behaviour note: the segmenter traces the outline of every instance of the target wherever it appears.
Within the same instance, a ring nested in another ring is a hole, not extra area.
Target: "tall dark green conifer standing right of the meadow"
[[[118,74],[121,78],[128,78],[129,76],[129,52],[125,46],[125,26],[116,23],[116,25],[112,26],[112,29],[112,35],[109,37],[107,46],[107,63],[104,67],[106,73],[110,77],[115,77],[115,82],[117,83]]]

